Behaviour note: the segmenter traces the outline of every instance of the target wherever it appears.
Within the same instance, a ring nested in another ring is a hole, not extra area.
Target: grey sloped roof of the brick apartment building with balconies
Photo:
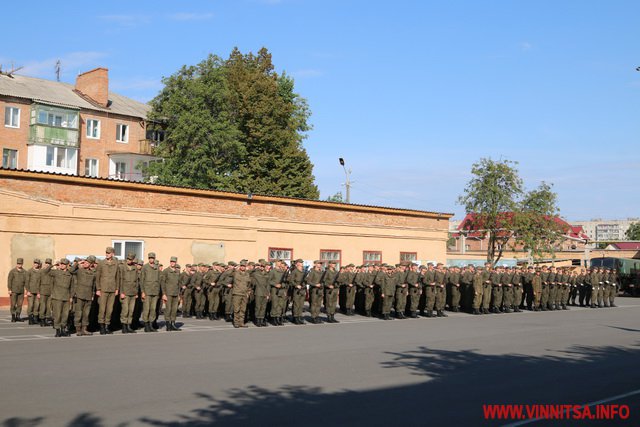
[[[83,110],[103,111],[123,116],[146,119],[151,109],[147,104],[109,91],[109,107],[104,108],[90,103],[74,91],[69,83],[54,82],[17,74],[0,74],[0,95],[29,99],[34,102],[58,105]]]

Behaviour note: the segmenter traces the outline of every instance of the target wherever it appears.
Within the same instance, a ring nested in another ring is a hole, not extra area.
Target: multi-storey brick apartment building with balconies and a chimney
[[[162,132],[149,106],[109,91],[106,68],[75,85],[0,74],[2,167],[141,181]]]

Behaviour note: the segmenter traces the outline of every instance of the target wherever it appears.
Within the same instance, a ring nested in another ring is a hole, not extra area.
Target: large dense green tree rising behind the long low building
[[[150,119],[167,137],[157,182],[317,199],[313,165],[302,146],[309,109],[294,82],[274,71],[271,54],[227,60],[210,55],[164,79]]]

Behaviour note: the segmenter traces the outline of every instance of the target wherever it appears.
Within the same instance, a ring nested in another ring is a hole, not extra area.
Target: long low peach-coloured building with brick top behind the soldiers
[[[452,216],[2,168],[0,199],[2,277],[18,257],[29,268],[34,258],[102,256],[107,246],[165,263],[445,262]],[[0,302],[6,296],[0,288]]]

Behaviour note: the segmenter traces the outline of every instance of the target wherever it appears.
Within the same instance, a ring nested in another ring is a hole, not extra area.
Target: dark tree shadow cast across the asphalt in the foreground
[[[638,344],[630,348],[574,346],[537,357],[427,347],[388,354],[390,360],[382,364],[388,376],[393,377],[396,370],[409,370],[421,381],[338,392],[325,392],[312,385],[285,385],[277,389],[254,385],[228,390],[224,396],[197,392],[190,405],[197,405],[196,409],[177,411],[170,419],[141,414],[138,419],[120,425],[500,425],[508,420],[485,420],[483,404],[582,404],[635,390],[640,384]],[[340,360],[336,360],[338,363]],[[638,425],[639,412],[637,407],[631,408],[632,420],[626,420],[625,424]],[[68,425],[113,424],[83,413]],[[43,417],[14,417],[2,425],[25,427],[48,423]]]

